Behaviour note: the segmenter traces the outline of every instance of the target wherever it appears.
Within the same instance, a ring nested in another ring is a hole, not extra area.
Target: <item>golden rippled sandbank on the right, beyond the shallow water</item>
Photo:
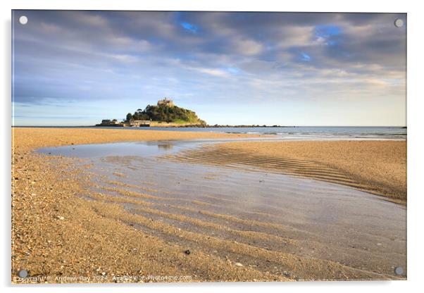
[[[404,141],[228,142],[186,151],[177,158],[312,177],[406,204]]]

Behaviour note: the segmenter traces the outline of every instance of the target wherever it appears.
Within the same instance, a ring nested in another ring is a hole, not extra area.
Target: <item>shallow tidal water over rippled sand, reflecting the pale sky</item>
[[[162,156],[207,142],[91,144],[39,151],[87,158],[96,174],[94,191],[114,199],[139,199],[140,204],[121,204],[130,213],[166,225],[269,251],[339,262],[372,271],[376,278],[393,276],[395,266],[406,268],[404,206],[328,182],[263,169],[168,161]],[[230,256],[266,271],[287,269],[167,235],[153,227],[137,228],[166,242]]]

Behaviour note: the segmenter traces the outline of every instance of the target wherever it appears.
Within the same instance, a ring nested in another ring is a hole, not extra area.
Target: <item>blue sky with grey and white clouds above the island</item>
[[[163,97],[210,125],[406,125],[406,14],[13,11],[12,22],[13,125],[122,120]]]

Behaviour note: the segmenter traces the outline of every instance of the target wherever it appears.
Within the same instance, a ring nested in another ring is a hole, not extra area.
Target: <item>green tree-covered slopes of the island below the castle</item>
[[[158,106],[148,105],[144,110],[138,109],[134,114],[127,113],[126,122],[129,123],[131,120],[151,120],[179,124],[206,124],[206,122],[200,120],[193,111],[178,106],[168,106],[166,104]]]

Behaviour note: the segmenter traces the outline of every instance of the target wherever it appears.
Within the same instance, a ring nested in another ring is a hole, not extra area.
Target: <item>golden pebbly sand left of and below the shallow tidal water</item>
[[[42,146],[66,144],[242,135],[45,128],[13,128],[12,131],[12,282],[22,281],[15,278],[21,269],[28,270],[32,278],[24,282],[158,281],[134,279],[135,276],[146,278],[149,275],[160,276],[159,281],[162,282],[299,280],[297,275],[306,276],[304,278],[308,280],[382,278],[381,275],[332,261],[302,258],[176,230],[170,225],[152,222],[142,214],[127,213],[111,200],[82,199],[79,197],[81,194],[99,199],[108,196],[89,194],[87,187],[92,184],[90,173],[75,164],[77,159],[47,157],[33,152],[33,149]],[[237,146],[239,149],[244,145],[245,151],[254,150],[263,155],[261,149],[264,148],[259,144],[227,144],[225,147]],[[225,255],[208,254],[201,249],[191,249],[187,254],[190,247],[146,235],[134,225],[128,225],[129,222],[194,239],[212,249],[216,247],[232,254],[248,254],[252,258],[274,261],[297,274],[277,274],[254,266],[243,266]],[[130,278],[123,280],[123,276]]]

